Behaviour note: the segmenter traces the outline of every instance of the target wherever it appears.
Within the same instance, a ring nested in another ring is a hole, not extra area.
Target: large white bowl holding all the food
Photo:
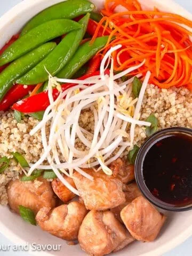
[[[0,19],[0,47],[36,13],[46,7],[63,0],[25,0],[13,7]],[[98,6],[102,6],[102,0],[92,0]],[[178,4],[171,0],[140,0],[141,4],[150,9],[154,6],[159,10],[174,12],[183,15],[192,20],[192,15],[188,13]],[[32,226],[23,221],[19,215],[12,213],[8,207],[0,206],[1,219],[0,231],[15,244],[61,244],[60,251],[41,251],[41,255],[86,255],[79,245],[69,246],[67,243],[57,237],[54,237],[39,227]],[[115,255],[129,256],[160,256],[164,252],[171,250],[179,245],[192,234],[192,212],[165,212],[167,221],[161,230],[158,238],[151,243],[134,242],[127,246],[124,250],[119,251]],[[29,246],[29,252],[37,255],[37,251],[33,251],[33,247]]]

